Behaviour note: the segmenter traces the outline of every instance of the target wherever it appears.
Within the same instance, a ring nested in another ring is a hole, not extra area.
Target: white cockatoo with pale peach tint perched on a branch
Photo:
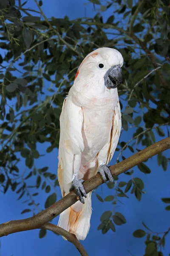
[[[79,201],[59,216],[58,226],[84,240],[90,228],[91,192],[83,181],[99,172],[113,182],[108,163],[121,131],[117,87],[123,58],[111,48],[88,54],[79,66],[60,116],[58,180],[62,196],[75,190]]]

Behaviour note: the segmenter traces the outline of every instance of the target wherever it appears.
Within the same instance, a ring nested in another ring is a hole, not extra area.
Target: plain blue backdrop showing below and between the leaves
[[[94,17],[95,12],[91,4],[84,0],[51,0],[43,1],[42,9],[47,17],[64,17],[68,15],[70,19],[77,17]],[[33,0],[29,0],[28,7],[34,8],[35,3]],[[110,11],[109,14],[111,15]],[[166,133],[166,129],[164,129]],[[167,134],[167,133],[166,133]],[[132,130],[128,131],[128,137],[131,138]],[[161,138],[156,136],[156,140]],[[121,140],[127,141],[127,133],[122,132]],[[38,151],[41,154],[45,154],[44,157],[36,160],[35,165],[37,168],[49,166],[49,171],[57,173],[57,156],[58,150],[55,149],[50,154],[46,153],[48,143],[42,147],[42,144],[38,145]],[[170,152],[170,151],[169,151]],[[128,152],[125,157],[130,156],[132,153]],[[168,156],[168,151],[164,153]],[[115,163],[118,153],[115,153],[111,164]],[[170,197],[169,181],[170,172],[164,172],[161,167],[157,165],[157,158],[153,157],[149,160],[148,166],[151,169],[150,175],[144,175],[139,169],[134,168],[133,177],[140,177],[144,181],[144,190],[146,193],[142,195],[142,201],[136,200],[134,195],[128,192],[128,198],[121,198],[123,204],[118,204],[116,211],[121,212],[127,223],[122,226],[116,226],[116,233],[111,230],[107,234],[102,235],[101,230],[98,231],[97,227],[100,223],[99,219],[102,213],[106,210],[112,210],[113,205],[110,202],[100,202],[96,198],[96,194],[105,198],[107,195],[112,195],[114,192],[108,189],[107,185],[100,186],[92,195],[92,218],[91,228],[85,241],[82,241],[83,246],[87,250],[89,255],[114,255],[114,256],[142,256],[144,255],[144,239],[136,239],[132,233],[136,229],[143,228],[142,221],[150,227],[151,230],[156,232],[166,231],[170,226],[169,212],[164,210],[165,204],[161,201],[162,197]],[[25,161],[19,164],[20,170],[25,168]],[[28,170],[29,172],[29,170]],[[119,180],[128,181],[129,176],[122,174],[119,176]],[[57,195],[59,200],[60,191],[57,187]],[[44,208],[44,202],[47,194],[44,192],[39,195],[37,202],[40,201],[40,207]],[[26,208],[25,204],[21,204],[22,201],[17,201],[18,195],[8,190],[6,195],[0,194],[0,223],[6,222],[12,219],[20,219],[30,217],[30,213],[20,215],[20,212]],[[54,219],[53,223],[57,224],[58,217]],[[7,237],[0,239],[1,248],[0,256],[56,256],[56,255],[74,255],[78,256],[77,249],[68,241],[64,241],[61,236],[57,236],[54,233],[48,231],[47,236],[43,239],[38,238],[39,230],[31,230],[22,233],[11,234]],[[170,241],[170,234],[167,236],[166,241]],[[128,252],[130,251],[130,253]],[[168,250],[168,244],[165,243],[164,255],[167,256],[170,251]]]

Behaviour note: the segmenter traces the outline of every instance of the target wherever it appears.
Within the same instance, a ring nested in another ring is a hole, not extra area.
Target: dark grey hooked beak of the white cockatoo
[[[119,65],[111,67],[104,76],[105,86],[108,89],[117,88],[122,83],[122,70]]]

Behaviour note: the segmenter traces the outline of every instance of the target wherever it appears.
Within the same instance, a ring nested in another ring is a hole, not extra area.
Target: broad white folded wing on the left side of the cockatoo
[[[84,149],[82,138],[83,112],[81,106],[73,103],[71,95],[62,105],[60,115],[58,179],[61,190],[68,193],[74,174],[81,164],[81,152]]]

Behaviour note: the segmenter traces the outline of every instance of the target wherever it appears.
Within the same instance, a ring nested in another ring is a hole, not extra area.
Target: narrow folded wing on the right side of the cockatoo
[[[115,151],[118,141],[119,141],[121,127],[122,127],[121,111],[120,111],[120,104],[118,101],[116,107],[113,110],[111,141],[110,141],[110,147],[108,150],[108,158],[107,158],[106,164],[108,164],[113,157],[114,151]]]

